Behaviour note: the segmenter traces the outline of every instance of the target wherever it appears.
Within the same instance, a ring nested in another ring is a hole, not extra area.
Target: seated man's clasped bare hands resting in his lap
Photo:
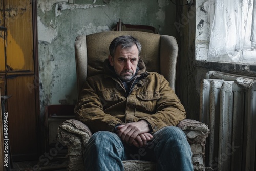
[[[147,141],[153,138],[153,135],[148,133],[150,128],[145,120],[139,122],[131,122],[117,127],[116,133],[121,140],[129,145],[136,147],[144,147]]]

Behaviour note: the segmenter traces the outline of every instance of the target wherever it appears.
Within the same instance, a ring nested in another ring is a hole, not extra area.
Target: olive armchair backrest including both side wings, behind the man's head
[[[121,35],[131,35],[142,46],[140,58],[146,71],[162,74],[175,90],[178,45],[174,37],[139,31],[108,31],[80,35],[75,41],[76,75],[78,95],[86,78],[102,73],[103,62],[109,55],[111,41]]]

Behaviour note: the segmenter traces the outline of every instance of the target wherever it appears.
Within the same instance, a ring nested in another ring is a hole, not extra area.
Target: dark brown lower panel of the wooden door
[[[35,92],[33,75],[7,76],[9,136],[14,160],[35,159],[37,153]]]

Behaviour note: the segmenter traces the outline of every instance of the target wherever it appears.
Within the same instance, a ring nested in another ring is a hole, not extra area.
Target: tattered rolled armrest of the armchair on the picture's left
[[[84,147],[91,136],[88,126],[78,120],[66,120],[59,125],[57,140],[62,145],[67,145],[69,170],[83,170]]]

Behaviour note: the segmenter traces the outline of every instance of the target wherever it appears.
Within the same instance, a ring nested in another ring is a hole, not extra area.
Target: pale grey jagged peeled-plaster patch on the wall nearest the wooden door
[[[46,27],[42,22],[41,18],[37,17],[37,25],[38,25],[38,40],[48,42],[51,44],[51,42],[57,37],[58,32],[57,30],[52,26],[52,20],[50,22],[50,27]]]

